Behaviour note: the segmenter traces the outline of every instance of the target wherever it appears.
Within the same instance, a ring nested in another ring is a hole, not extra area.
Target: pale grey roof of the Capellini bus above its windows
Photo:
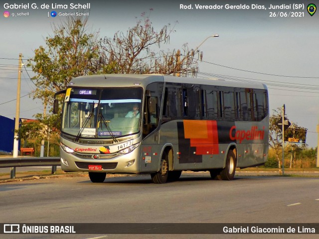
[[[72,79],[69,87],[146,87],[153,82],[172,82],[185,84],[202,84],[215,86],[229,86],[241,88],[267,89],[266,85],[261,83],[243,83],[236,81],[225,81],[192,77],[176,77],[160,74],[104,74],[80,76]]]

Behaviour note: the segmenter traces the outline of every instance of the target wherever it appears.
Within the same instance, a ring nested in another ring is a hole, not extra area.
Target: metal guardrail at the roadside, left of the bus
[[[15,167],[52,166],[54,174],[60,165],[60,157],[0,158],[0,168],[11,168],[11,178],[15,178]]]

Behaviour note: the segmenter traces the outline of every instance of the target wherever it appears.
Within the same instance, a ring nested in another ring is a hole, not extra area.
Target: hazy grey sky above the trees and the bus
[[[199,63],[197,77],[266,84],[269,89],[270,114],[285,104],[290,122],[308,128],[307,144],[310,147],[318,144],[319,10],[313,16],[308,13],[307,5],[311,1],[2,2],[1,116],[10,119],[15,117],[19,53],[23,54],[23,62],[26,63],[27,59],[33,57],[36,48],[45,45],[44,38],[52,34],[52,24],[59,24],[65,19],[65,16],[48,15],[52,10],[57,13],[77,12],[71,9],[70,3],[76,6],[90,3],[89,9],[81,10],[89,12],[88,26],[99,32],[101,37],[113,37],[114,33],[126,32],[129,27],[133,27],[137,19],[142,18],[141,13],[150,12],[152,8],[150,19],[155,29],[168,23],[174,25],[175,32],[171,34],[170,42],[161,45],[161,49],[180,49],[185,43],[193,49],[200,45],[203,61]],[[62,4],[64,9],[57,9],[56,4]],[[204,9],[204,5],[219,9]],[[278,9],[270,9],[272,6]],[[17,16],[19,13],[26,15]],[[9,16],[5,17],[6,14]],[[206,39],[212,34],[218,34],[219,37]],[[23,67],[20,118],[34,119],[36,113],[43,113],[42,103],[28,96],[35,89],[30,80],[32,76],[34,74],[31,69]]]

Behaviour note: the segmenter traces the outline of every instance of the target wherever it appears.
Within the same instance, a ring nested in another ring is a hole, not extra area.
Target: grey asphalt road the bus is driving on
[[[0,184],[0,223],[319,223],[319,179],[185,174],[40,179]],[[4,236],[4,237],[2,237]],[[1,235],[37,238],[317,238],[318,235]]]

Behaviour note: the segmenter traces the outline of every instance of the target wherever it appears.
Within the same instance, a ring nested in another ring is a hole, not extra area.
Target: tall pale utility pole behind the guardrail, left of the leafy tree
[[[22,53],[19,54],[18,65],[18,85],[16,90],[16,107],[15,107],[15,124],[14,124],[14,139],[13,139],[13,158],[18,156],[18,130],[20,122],[20,89],[21,89],[21,71],[22,71]],[[11,168],[11,178],[15,178],[15,167]]]

